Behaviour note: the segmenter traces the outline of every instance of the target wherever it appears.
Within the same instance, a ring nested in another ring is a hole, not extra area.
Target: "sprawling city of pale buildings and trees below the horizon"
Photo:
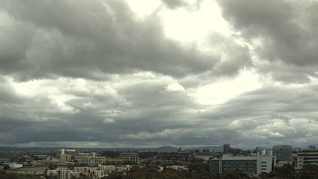
[[[209,172],[220,176],[235,172],[248,177],[269,174],[277,167],[292,166],[301,171],[306,165],[318,164],[318,149],[293,148],[291,145],[255,150],[223,146],[215,149],[178,148],[174,152],[157,151],[58,151],[0,152],[0,178],[5,172],[42,179],[107,179],[108,176],[127,175],[132,168],[157,167],[158,172],[177,170]]]

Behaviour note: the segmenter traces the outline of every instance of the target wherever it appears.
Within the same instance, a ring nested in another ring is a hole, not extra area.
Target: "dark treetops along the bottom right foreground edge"
[[[276,167],[275,171],[263,173],[258,178],[249,177],[236,171],[231,174],[220,175],[205,171],[188,172],[165,169],[159,172],[158,167],[133,167],[125,175],[123,173],[112,173],[104,179],[318,179],[318,166],[306,165],[304,169],[297,172],[292,165]]]

